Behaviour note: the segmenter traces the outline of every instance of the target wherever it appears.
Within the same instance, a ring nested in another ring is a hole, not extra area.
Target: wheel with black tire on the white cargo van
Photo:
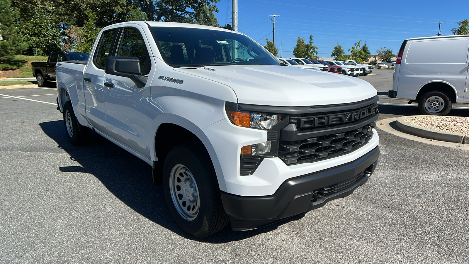
[[[418,109],[423,115],[446,116],[452,106],[448,95],[437,91],[424,93],[418,101]]]

